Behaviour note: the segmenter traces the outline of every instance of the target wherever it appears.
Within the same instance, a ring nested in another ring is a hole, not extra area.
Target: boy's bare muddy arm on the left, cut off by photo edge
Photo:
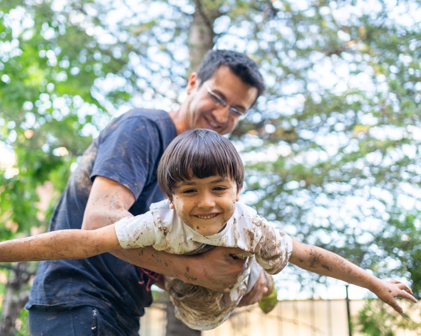
[[[114,226],[58,230],[0,242],[0,262],[83,259],[119,248]]]

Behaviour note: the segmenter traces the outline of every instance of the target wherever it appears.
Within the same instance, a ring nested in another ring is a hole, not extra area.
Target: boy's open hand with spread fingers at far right
[[[402,297],[412,302],[417,302],[417,300],[412,296],[412,290],[397,280],[391,280],[389,282],[381,280],[378,290],[373,290],[373,292],[380,300],[392,306],[398,313],[403,313],[403,309],[396,300],[396,297]]]

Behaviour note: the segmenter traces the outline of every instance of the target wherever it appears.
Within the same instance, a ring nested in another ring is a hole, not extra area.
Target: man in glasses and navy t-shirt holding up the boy
[[[229,50],[209,51],[190,75],[176,111],[132,109],[94,140],[69,178],[49,230],[95,229],[144,213],[162,200],[159,159],[171,140],[194,128],[231,132],[264,90],[257,65]],[[75,246],[77,248],[77,246]],[[41,262],[25,307],[33,335],[137,335],[143,307],[152,302],[148,270],[214,290],[236,281],[243,260],[214,248],[195,256],[152,248],[119,250],[82,259]],[[144,269],[143,269],[144,268]],[[264,278],[262,275],[261,278]],[[257,302],[264,280],[252,297]],[[257,285],[256,285],[257,286]]]

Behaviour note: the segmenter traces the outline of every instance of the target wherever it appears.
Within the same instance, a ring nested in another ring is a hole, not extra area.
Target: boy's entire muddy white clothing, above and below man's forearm
[[[170,209],[168,201],[154,203],[150,211],[115,223],[123,248],[152,246],[172,254],[196,254],[209,246],[239,247],[247,258],[238,281],[229,292],[216,292],[165,276],[165,287],[175,316],[190,328],[208,330],[222,324],[260,276],[260,264],[268,273],[281,271],[292,251],[292,240],[246,205],[236,203],[225,228],[202,236]],[[258,263],[258,264],[257,264]]]

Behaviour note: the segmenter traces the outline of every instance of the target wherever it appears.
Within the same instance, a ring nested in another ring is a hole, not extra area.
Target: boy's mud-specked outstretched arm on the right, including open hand
[[[292,244],[289,262],[300,268],[367,288],[399,313],[403,310],[396,297],[417,302],[411,295],[412,290],[399,281],[382,281],[350,261],[321,247],[303,244],[296,240],[293,240]]]

